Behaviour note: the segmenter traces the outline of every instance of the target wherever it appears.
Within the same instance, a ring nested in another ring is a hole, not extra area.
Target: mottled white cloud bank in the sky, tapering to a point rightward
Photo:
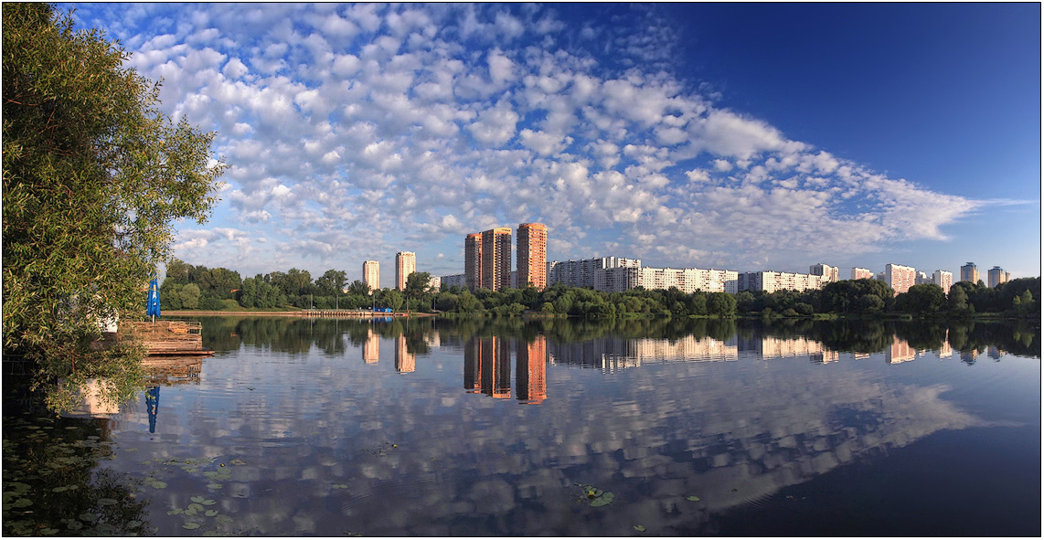
[[[802,269],[945,239],[980,204],[716,106],[655,7],[583,23],[495,4],[78,9],[162,78],[174,119],[218,132],[222,202],[175,244],[195,264],[352,277],[412,250],[457,273],[462,235],[541,221],[552,260]]]

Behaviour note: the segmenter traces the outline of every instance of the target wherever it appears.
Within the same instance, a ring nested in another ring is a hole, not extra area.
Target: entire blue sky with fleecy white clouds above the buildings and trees
[[[1041,273],[1040,4],[58,6],[217,132],[190,264],[386,287],[541,222],[548,261]]]

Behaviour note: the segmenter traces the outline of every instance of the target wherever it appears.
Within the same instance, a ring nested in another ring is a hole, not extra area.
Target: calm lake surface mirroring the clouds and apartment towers
[[[5,535],[1041,534],[1039,327],[203,320],[118,412],[5,391]]]

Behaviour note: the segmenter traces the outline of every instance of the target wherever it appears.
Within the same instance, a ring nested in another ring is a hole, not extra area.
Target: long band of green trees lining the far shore
[[[634,289],[606,293],[553,285],[491,291],[460,287],[429,287],[427,272],[410,274],[405,290],[371,290],[366,284],[347,283],[342,270],[327,270],[311,278],[307,270],[257,274],[241,278],[227,268],[193,266],[172,260],[160,288],[164,310],[203,315],[279,313],[306,315],[369,311],[394,313],[518,316],[543,314],[583,318],[609,317],[916,317],[1011,318],[1040,320],[1040,277],[1013,279],[990,288],[978,281],[959,281],[949,291],[933,284],[916,285],[895,294],[877,279],[846,279],[806,291],[743,291],[691,294],[678,289]],[[169,313],[169,312],[168,312]]]

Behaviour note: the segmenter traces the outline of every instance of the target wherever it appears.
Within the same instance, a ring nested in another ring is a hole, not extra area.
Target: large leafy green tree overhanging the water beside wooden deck
[[[71,13],[3,4],[3,350],[56,410],[90,377],[132,389],[140,350],[88,345],[100,320],[144,315],[174,221],[207,219],[224,169],[128,57]]]

